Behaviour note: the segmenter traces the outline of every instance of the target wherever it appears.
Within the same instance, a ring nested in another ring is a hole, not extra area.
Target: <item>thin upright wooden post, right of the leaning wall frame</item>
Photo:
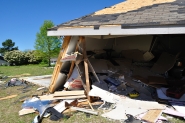
[[[90,91],[90,82],[89,82],[89,71],[88,71],[88,59],[86,54],[86,42],[85,37],[80,37],[80,41],[83,44],[83,56],[84,56],[84,68],[85,68],[85,81],[86,81],[86,92],[89,102],[91,102],[90,96],[88,96]]]

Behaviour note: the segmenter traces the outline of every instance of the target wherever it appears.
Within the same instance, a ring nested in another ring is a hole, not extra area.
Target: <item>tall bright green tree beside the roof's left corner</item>
[[[40,27],[40,32],[36,34],[35,49],[37,55],[42,57],[43,60],[47,59],[48,66],[50,66],[51,57],[59,53],[61,41],[57,37],[48,37],[47,29],[53,27],[52,21],[44,21]]]

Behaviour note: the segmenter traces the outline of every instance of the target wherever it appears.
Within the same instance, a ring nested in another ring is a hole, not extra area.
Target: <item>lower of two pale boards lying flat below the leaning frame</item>
[[[43,96],[38,96],[38,97],[39,97],[40,100],[60,100],[60,99],[79,99],[79,98],[86,98],[85,95],[54,97],[53,94],[43,95]]]

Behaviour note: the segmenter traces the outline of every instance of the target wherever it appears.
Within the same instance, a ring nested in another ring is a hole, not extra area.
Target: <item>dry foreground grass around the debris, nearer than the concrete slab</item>
[[[0,123],[31,123],[34,117],[38,114],[28,114],[24,116],[19,116],[18,112],[21,110],[20,102],[22,97],[31,97],[33,94],[41,94],[42,91],[36,91],[39,87],[37,85],[30,85],[31,87],[27,92],[23,93],[23,86],[14,86],[4,88],[0,85],[0,97],[6,97],[9,95],[17,94],[18,96],[12,99],[1,100],[0,101]],[[70,116],[70,117],[69,117]],[[75,112],[68,113],[61,120],[57,121],[60,123],[116,123],[115,121],[103,118],[101,116],[90,115],[86,116],[85,113]],[[44,118],[42,123],[56,123],[56,121],[51,121],[49,118]],[[117,121],[119,123],[119,121]]]

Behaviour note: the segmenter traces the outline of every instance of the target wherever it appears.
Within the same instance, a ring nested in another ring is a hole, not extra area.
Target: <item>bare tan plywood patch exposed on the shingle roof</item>
[[[110,8],[105,8],[97,11],[94,15],[123,13],[153,4],[168,3],[174,1],[175,0],[127,0],[125,2],[111,6]]]

